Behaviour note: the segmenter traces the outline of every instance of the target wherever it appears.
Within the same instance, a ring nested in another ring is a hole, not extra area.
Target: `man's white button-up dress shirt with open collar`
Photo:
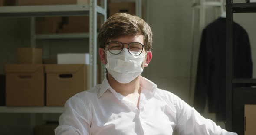
[[[71,97],[55,135],[237,135],[205,119],[178,96],[140,78],[139,106],[117,93],[105,78]]]

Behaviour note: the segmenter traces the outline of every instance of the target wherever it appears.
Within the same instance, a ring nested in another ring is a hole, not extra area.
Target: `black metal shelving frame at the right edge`
[[[233,77],[233,13],[256,12],[256,3],[233,3],[226,0],[226,129],[232,131],[232,106],[234,84],[256,83],[256,79]]]

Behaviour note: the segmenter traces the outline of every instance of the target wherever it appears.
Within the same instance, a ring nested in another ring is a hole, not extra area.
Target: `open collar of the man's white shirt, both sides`
[[[157,85],[154,84],[153,82],[151,82],[150,80],[148,80],[145,77],[140,76],[140,85],[144,90],[148,90],[150,95],[154,95],[156,89],[157,89]],[[100,89],[97,91],[98,94],[98,98],[100,98],[106,90],[108,90],[109,88],[111,88],[111,86],[108,83],[108,79],[105,76],[104,80],[102,81],[102,84],[100,85]]]

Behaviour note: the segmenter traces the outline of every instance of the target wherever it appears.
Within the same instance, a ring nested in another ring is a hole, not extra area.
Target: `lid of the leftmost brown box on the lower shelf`
[[[43,64],[6,64],[5,73],[33,73],[43,67]]]

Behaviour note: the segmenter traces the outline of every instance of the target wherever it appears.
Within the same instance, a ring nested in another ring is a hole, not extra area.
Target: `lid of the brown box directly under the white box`
[[[46,73],[75,73],[80,68],[85,68],[85,64],[46,64]]]

